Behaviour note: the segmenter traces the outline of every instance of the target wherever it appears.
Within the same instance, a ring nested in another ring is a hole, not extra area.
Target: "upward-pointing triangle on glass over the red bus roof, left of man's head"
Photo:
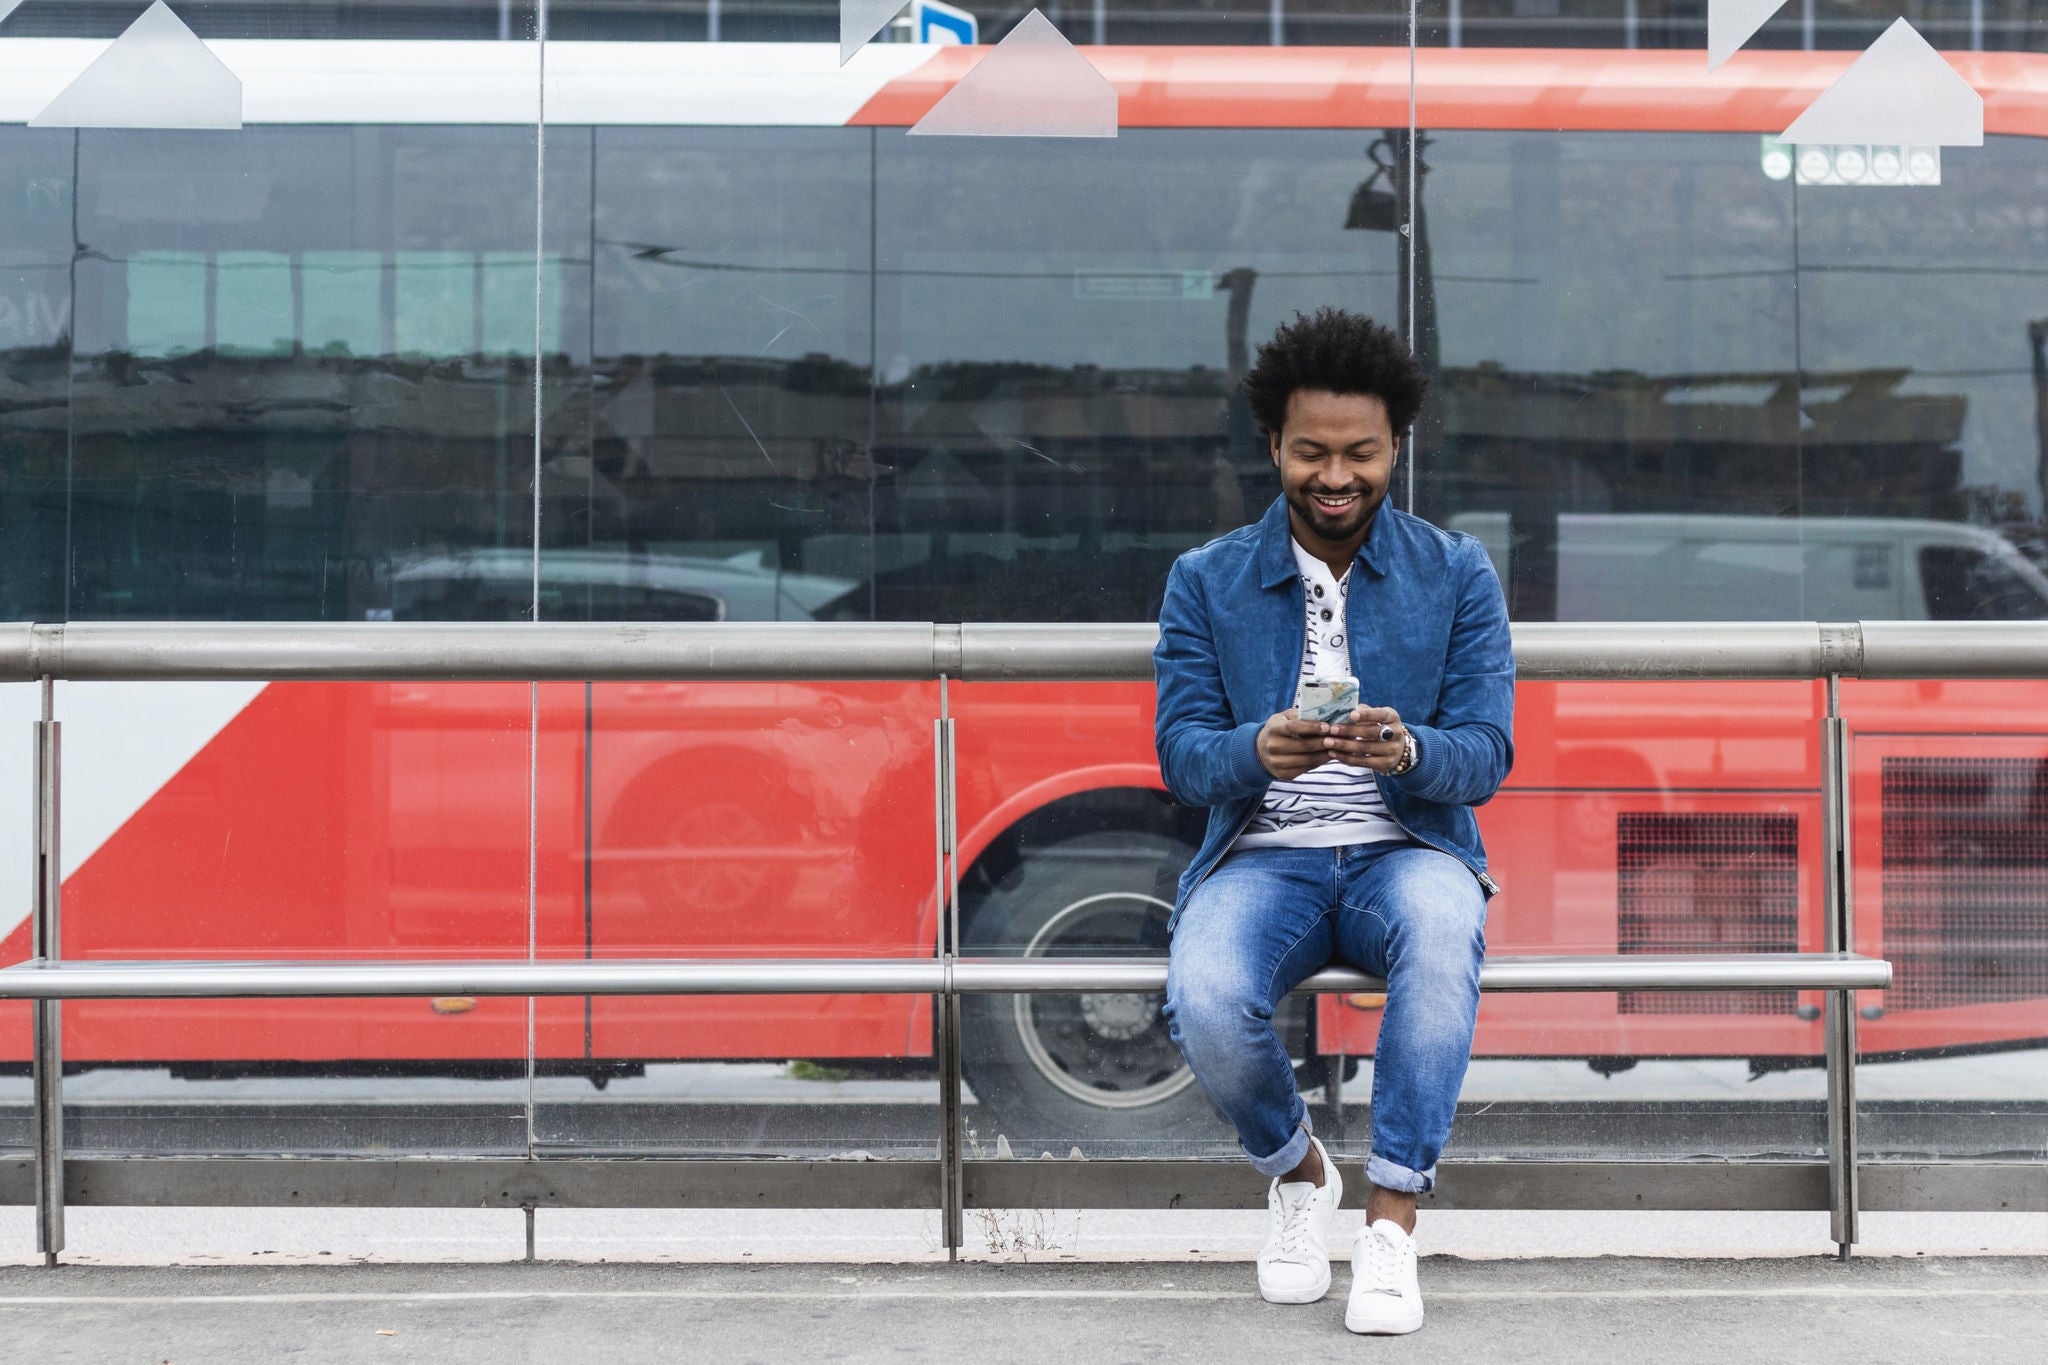
[[[909,129],[926,137],[1116,137],[1116,86],[1032,10]]]

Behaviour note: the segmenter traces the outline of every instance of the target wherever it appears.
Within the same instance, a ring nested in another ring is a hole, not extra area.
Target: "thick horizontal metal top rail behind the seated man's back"
[[[1149,624],[0,624],[0,681],[1151,681]],[[2048,622],[1526,622],[1524,681],[2044,677]]]

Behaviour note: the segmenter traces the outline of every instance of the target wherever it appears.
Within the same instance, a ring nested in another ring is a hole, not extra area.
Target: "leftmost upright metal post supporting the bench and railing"
[[[63,956],[57,900],[63,864],[57,841],[59,733],[55,679],[43,677],[43,718],[35,722],[35,888],[31,894],[31,952],[37,962]],[[63,1250],[63,1003],[35,1003],[35,1248],[43,1265],[57,1265]]]

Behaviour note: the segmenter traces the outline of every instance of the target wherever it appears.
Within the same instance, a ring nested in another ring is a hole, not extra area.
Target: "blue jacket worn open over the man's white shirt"
[[[1257,733],[1294,704],[1305,616],[1282,497],[1255,524],[1174,561],[1153,651],[1159,774],[1176,800],[1208,806],[1174,919],[1266,796]],[[1389,814],[1493,894],[1473,806],[1516,757],[1516,659],[1493,563],[1479,540],[1380,503],[1352,565],[1343,624],[1364,704],[1401,712],[1419,747],[1415,767],[1380,776]]]

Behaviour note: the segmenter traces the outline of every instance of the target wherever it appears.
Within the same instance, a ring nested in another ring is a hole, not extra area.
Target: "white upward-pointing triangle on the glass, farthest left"
[[[29,127],[238,129],[242,78],[156,0]]]

